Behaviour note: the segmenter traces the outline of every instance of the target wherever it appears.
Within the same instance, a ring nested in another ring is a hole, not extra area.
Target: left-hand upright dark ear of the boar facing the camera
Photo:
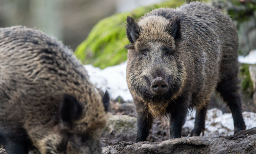
[[[130,43],[134,43],[139,37],[139,25],[130,16],[127,16],[126,35]]]

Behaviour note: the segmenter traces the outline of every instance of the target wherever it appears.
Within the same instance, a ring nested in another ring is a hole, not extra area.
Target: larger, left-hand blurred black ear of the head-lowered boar
[[[65,94],[60,104],[59,114],[62,125],[70,127],[72,122],[81,116],[82,106],[75,97]]]

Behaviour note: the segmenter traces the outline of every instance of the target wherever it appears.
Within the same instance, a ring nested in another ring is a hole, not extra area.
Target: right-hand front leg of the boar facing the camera
[[[188,111],[189,99],[178,98],[175,102],[171,103],[167,110],[170,115],[170,136],[173,138],[181,137],[181,129],[185,123]]]

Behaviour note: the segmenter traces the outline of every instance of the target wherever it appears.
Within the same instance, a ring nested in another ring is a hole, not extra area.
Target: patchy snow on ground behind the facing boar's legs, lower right
[[[186,123],[183,127],[188,127],[190,130],[194,128],[195,110],[188,114]],[[256,127],[256,113],[243,112],[246,129]],[[205,118],[204,136],[217,137],[233,135],[234,124],[231,113],[222,113],[220,109],[213,108],[207,110]],[[202,133],[201,133],[202,136]]]

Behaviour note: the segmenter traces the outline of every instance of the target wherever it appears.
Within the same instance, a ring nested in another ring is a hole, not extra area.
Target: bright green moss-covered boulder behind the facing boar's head
[[[105,68],[120,64],[127,59],[127,50],[123,48],[129,43],[125,34],[127,15],[138,19],[153,9],[175,8],[184,2],[185,0],[171,0],[102,19],[94,26],[86,40],[76,48],[75,55],[83,64],[93,64],[95,67]]]

